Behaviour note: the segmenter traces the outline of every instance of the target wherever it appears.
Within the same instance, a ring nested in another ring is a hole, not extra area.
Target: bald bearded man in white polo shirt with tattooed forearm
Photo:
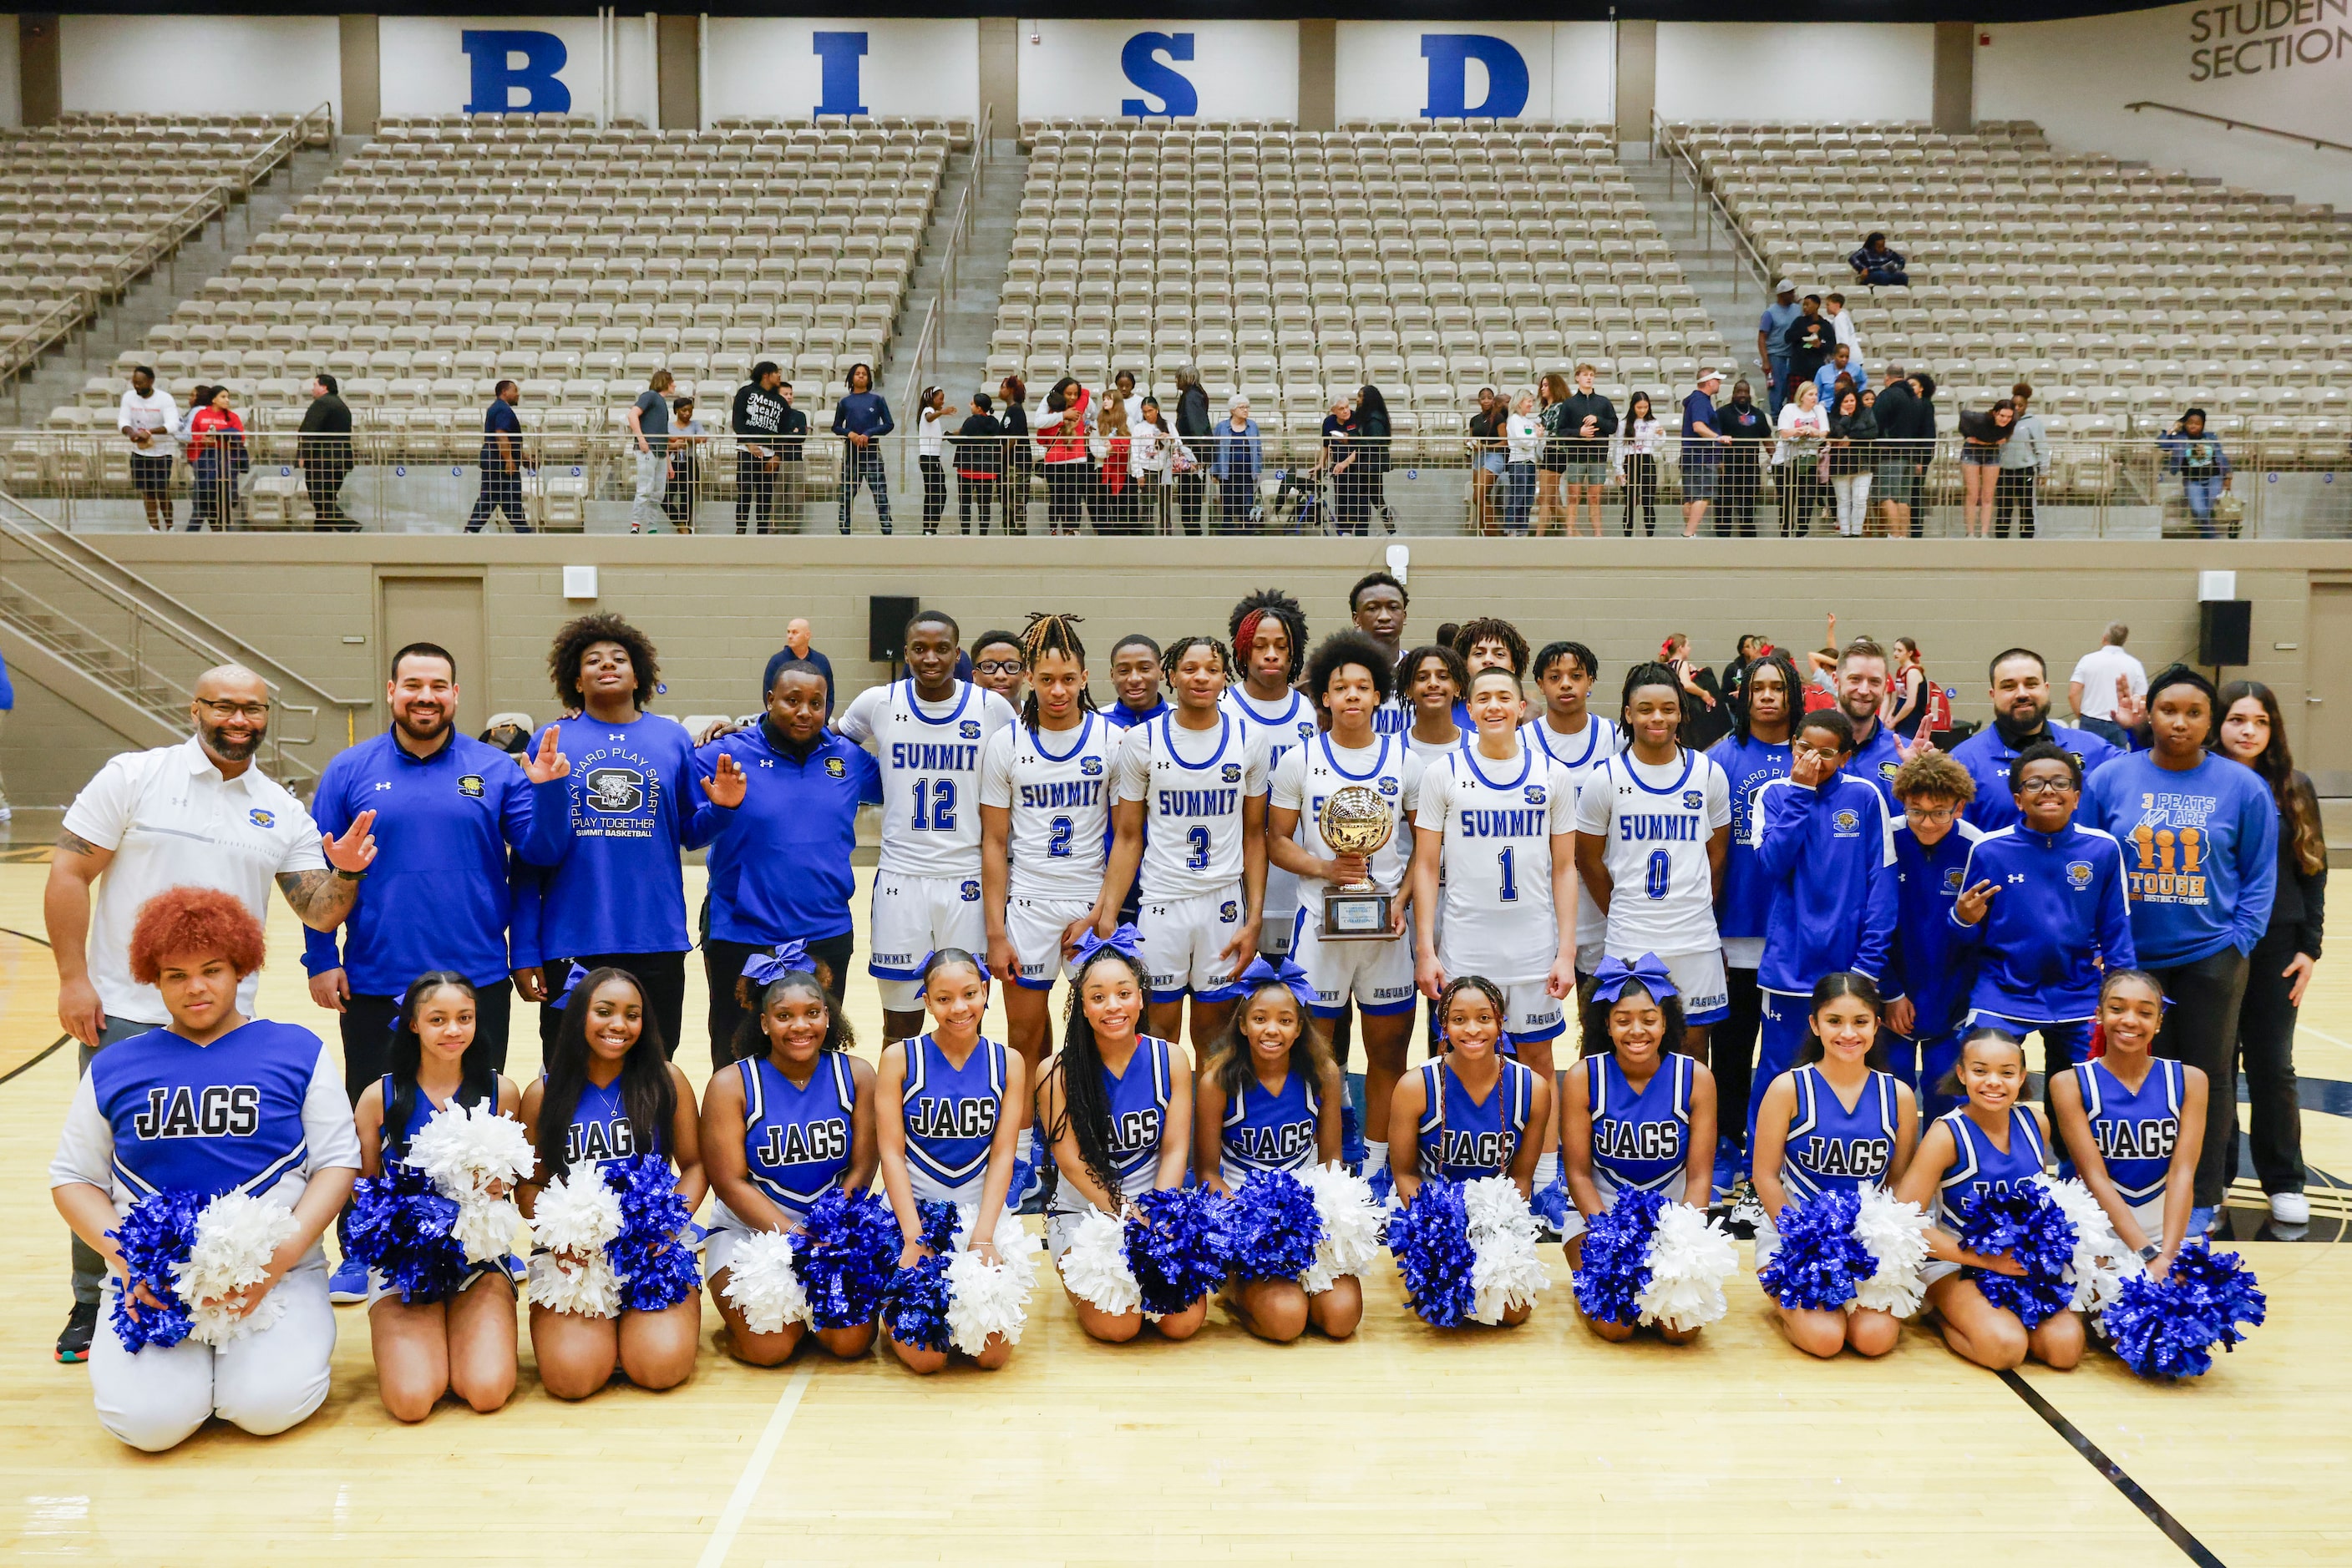
[[[341,839],[322,837],[303,804],[254,766],[270,726],[268,686],[238,665],[207,670],[188,703],[195,733],[179,745],[122,752],[66,809],[49,860],[42,919],[56,959],[56,1018],[80,1044],[82,1072],[106,1046],[172,1016],[129,973],[129,938],[148,898],[174,886],[219,889],[268,917],[275,882],[301,922],[334,931],[360,900],[376,858],[362,811]],[[245,976],[238,1011],[254,1013],[261,976]],[[73,1241],[73,1316],[59,1361],[85,1361],[106,1265]]]

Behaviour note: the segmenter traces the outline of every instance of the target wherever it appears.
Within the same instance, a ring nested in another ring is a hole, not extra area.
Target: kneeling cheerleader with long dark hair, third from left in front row
[[[579,976],[576,969],[574,973]],[[626,969],[597,969],[576,978],[548,1048],[548,1070],[522,1093],[522,1124],[539,1154],[539,1168],[522,1185],[522,1213],[534,1222],[546,1218],[541,1199],[553,1182],[569,1185],[607,1164],[637,1157],[670,1164],[677,1201],[689,1215],[708,1190],[694,1086],[670,1065],[661,1025]],[[666,1246],[687,1244],[677,1234]],[[701,1302],[691,1291],[659,1309],[623,1302],[609,1314],[539,1300],[555,1274],[569,1276],[597,1265],[600,1258],[581,1253],[532,1258],[532,1354],[548,1394],[588,1399],[612,1382],[614,1371],[642,1389],[670,1389],[694,1375]]]

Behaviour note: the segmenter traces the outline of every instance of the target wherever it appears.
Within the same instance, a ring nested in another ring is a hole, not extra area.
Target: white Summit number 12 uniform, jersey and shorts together
[[[920,1009],[922,961],[941,947],[983,952],[981,757],[1014,724],[995,691],[955,682],[955,696],[924,703],[913,677],[868,686],[835,729],[873,743],[882,764],[882,863],[875,870],[873,957],[882,1009]]]

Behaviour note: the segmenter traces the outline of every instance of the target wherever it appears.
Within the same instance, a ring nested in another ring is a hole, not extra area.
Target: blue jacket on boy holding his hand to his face
[[[1886,978],[1886,947],[1896,929],[1896,846],[1886,802],[1846,771],[1818,788],[1776,778],[1757,797],[1757,870],[1773,891],[1757,985],[1809,997],[1820,976],[1856,969],[1893,1001],[1900,987]]]

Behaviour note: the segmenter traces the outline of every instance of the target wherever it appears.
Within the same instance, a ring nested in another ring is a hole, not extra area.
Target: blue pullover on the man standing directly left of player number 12
[[[706,804],[710,839],[710,936],[722,943],[814,943],[849,931],[858,806],[882,804],[882,764],[823,731],[807,757],[779,750],[767,719],[694,752],[703,778],[720,757],[743,769],[743,804]]]

